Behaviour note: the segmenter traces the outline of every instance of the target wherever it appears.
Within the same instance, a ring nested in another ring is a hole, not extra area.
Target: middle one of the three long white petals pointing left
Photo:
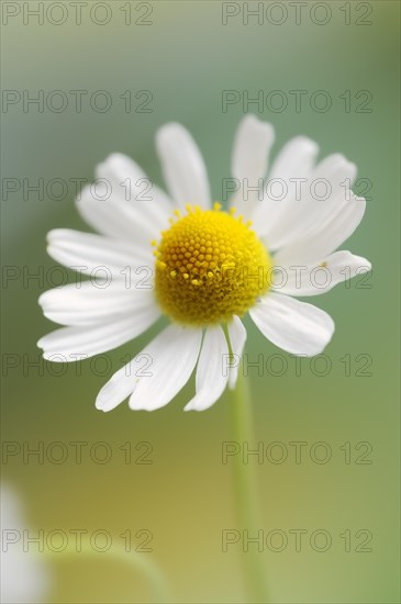
[[[43,314],[62,325],[94,325],[155,306],[152,289],[129,287],[124,281],[70,283],[44,292],[38,303]]]

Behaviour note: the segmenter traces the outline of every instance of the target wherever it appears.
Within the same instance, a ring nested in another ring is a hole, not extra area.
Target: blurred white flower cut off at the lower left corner
[[[15,494],[4,484],[0,488],[1,500],[1,602],[29,604],[44,602],[49,588],[47,569],[40,555],[23,547],[21,504]],[[29,537],[36,534],[29,535]],[[27,544],[27,539],[25,539]],[[37,544],[31,544],[32,548]],[[25,550],[24,550],[25,549]]]

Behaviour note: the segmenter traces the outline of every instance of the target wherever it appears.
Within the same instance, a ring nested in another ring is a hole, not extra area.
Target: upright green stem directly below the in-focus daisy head
[[[238,371],[238,380],[235,390],[229,391],[229,407],[233,439],[243,450],[244,443],[252,446],[253,422],[252,404],[248,383],[242,374],[242,366]],[[237,501],[237,514],[241,528],[248,532],[254,538],[260,530],[259,510],[257,504],[257,488],[254,467],[245,465],[242,456],[234,458],[234,480]],[[268,592],[266,571],[263,564],[263,556],[258,551],[257,544],[250,544],[248,551],[243,552],[244,574],[249,590],[252,602],[267,603]]]

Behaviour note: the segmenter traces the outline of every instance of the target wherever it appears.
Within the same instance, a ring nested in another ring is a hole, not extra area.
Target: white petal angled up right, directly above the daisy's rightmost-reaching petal
[[[352,197],[339,202],[333,215],[316,226],[314,234],[305,235],[293,244],[285,246],[275,255],[275,265],[309,266],[319,262],[341,246],[356,230],[366,209],[363,198]]]

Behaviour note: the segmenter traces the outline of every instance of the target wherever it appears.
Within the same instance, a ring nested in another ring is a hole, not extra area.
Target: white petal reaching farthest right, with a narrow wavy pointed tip
[[[337,283],[371,270],[366,258],[350,251],[335,251],[309,267],[282,268],[272,282],[275,291],[287,295],[318,295],[333,289]]]

